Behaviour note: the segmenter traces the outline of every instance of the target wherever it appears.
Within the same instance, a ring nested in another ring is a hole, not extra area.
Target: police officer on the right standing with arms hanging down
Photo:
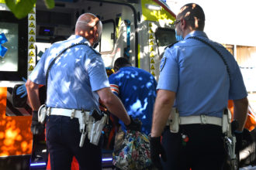
[[[244,128],[248,101],[239,66],[227,49],[208,39],[204,25],[202,8],[184,5],[175,21],[178,39],[184,39],[161,59],[150,134],[151,158],[159,169],[223,168],[227,153],[221,122],[228,99],[234,100],[237,133]],[[166,126],[172,107],[180,116],[178,133]]]

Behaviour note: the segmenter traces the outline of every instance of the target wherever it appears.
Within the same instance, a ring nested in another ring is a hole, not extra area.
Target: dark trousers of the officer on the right
[[[227,158],[222,128],[212,124],[180,125],[178,133],[164,129],[165,170],[220,170]]]

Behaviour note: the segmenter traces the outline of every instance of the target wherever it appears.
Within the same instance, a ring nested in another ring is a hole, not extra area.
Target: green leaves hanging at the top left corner
[[[17,19],[22,19],[36,5],[36,0],[5,0],[6,5]],[[54,0],[44,0],[47,8],[54,8]]]

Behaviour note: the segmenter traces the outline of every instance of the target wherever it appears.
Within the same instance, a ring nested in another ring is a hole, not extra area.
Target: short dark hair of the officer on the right
[[[203,31],[206,19],[201,6],[195,3],[189,3],[182,6],[180,12],[181,13],[178,14],[180,19],[185,19],[188,25],[192,26],[193,29]]]

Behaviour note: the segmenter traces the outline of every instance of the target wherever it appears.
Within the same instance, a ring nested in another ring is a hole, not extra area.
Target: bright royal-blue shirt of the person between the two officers
[[[142,131],[150,133],[157,82],[150,73],[133,66],[120,68],[109,76],[111,90],[122,100],[129,115],[142,121]],[[119,121],[124,128],[122,121]]]

